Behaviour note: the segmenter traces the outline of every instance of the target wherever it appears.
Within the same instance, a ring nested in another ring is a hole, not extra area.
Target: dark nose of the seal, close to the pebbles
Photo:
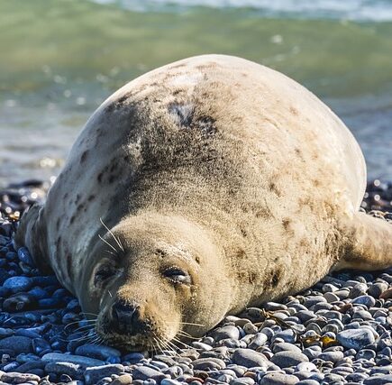
[[[120,333],[136,335],[141,325],[139,307],[132,303],[117,301],[112,307],[112,320]]]

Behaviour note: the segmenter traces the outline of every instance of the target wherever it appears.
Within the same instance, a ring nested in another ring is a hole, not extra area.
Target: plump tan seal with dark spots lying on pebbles
[[[151,350],[329,270],[392,264],[392,226],[359,212],[365,186],[358,143],[312,93],[205,55],[110,96],[15,241],[106,344]]]

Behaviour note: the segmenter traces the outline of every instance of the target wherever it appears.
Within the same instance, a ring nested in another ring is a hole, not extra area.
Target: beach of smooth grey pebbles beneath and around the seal
[[[339,271],[295,296],[227,316],[176,351],[119,352],[13,234],[49,183],[0,191],[0,385],[392,383],[392,268]],[[369,182],[362,209],[392,222],[392,183]]]

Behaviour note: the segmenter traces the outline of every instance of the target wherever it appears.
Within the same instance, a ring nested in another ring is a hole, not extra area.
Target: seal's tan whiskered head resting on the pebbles
[[[183,218],[132,216],[96,244],[78,298],[97,314],[105,344],[168,348],[203,335],[229,310],[221,253],[210,234]]]

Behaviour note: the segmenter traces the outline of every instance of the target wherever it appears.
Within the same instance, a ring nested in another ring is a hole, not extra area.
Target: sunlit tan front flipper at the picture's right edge
[[[343,226],[343,256],[334,270],[381,270],[392,266],[392,224],[356,213]]]

